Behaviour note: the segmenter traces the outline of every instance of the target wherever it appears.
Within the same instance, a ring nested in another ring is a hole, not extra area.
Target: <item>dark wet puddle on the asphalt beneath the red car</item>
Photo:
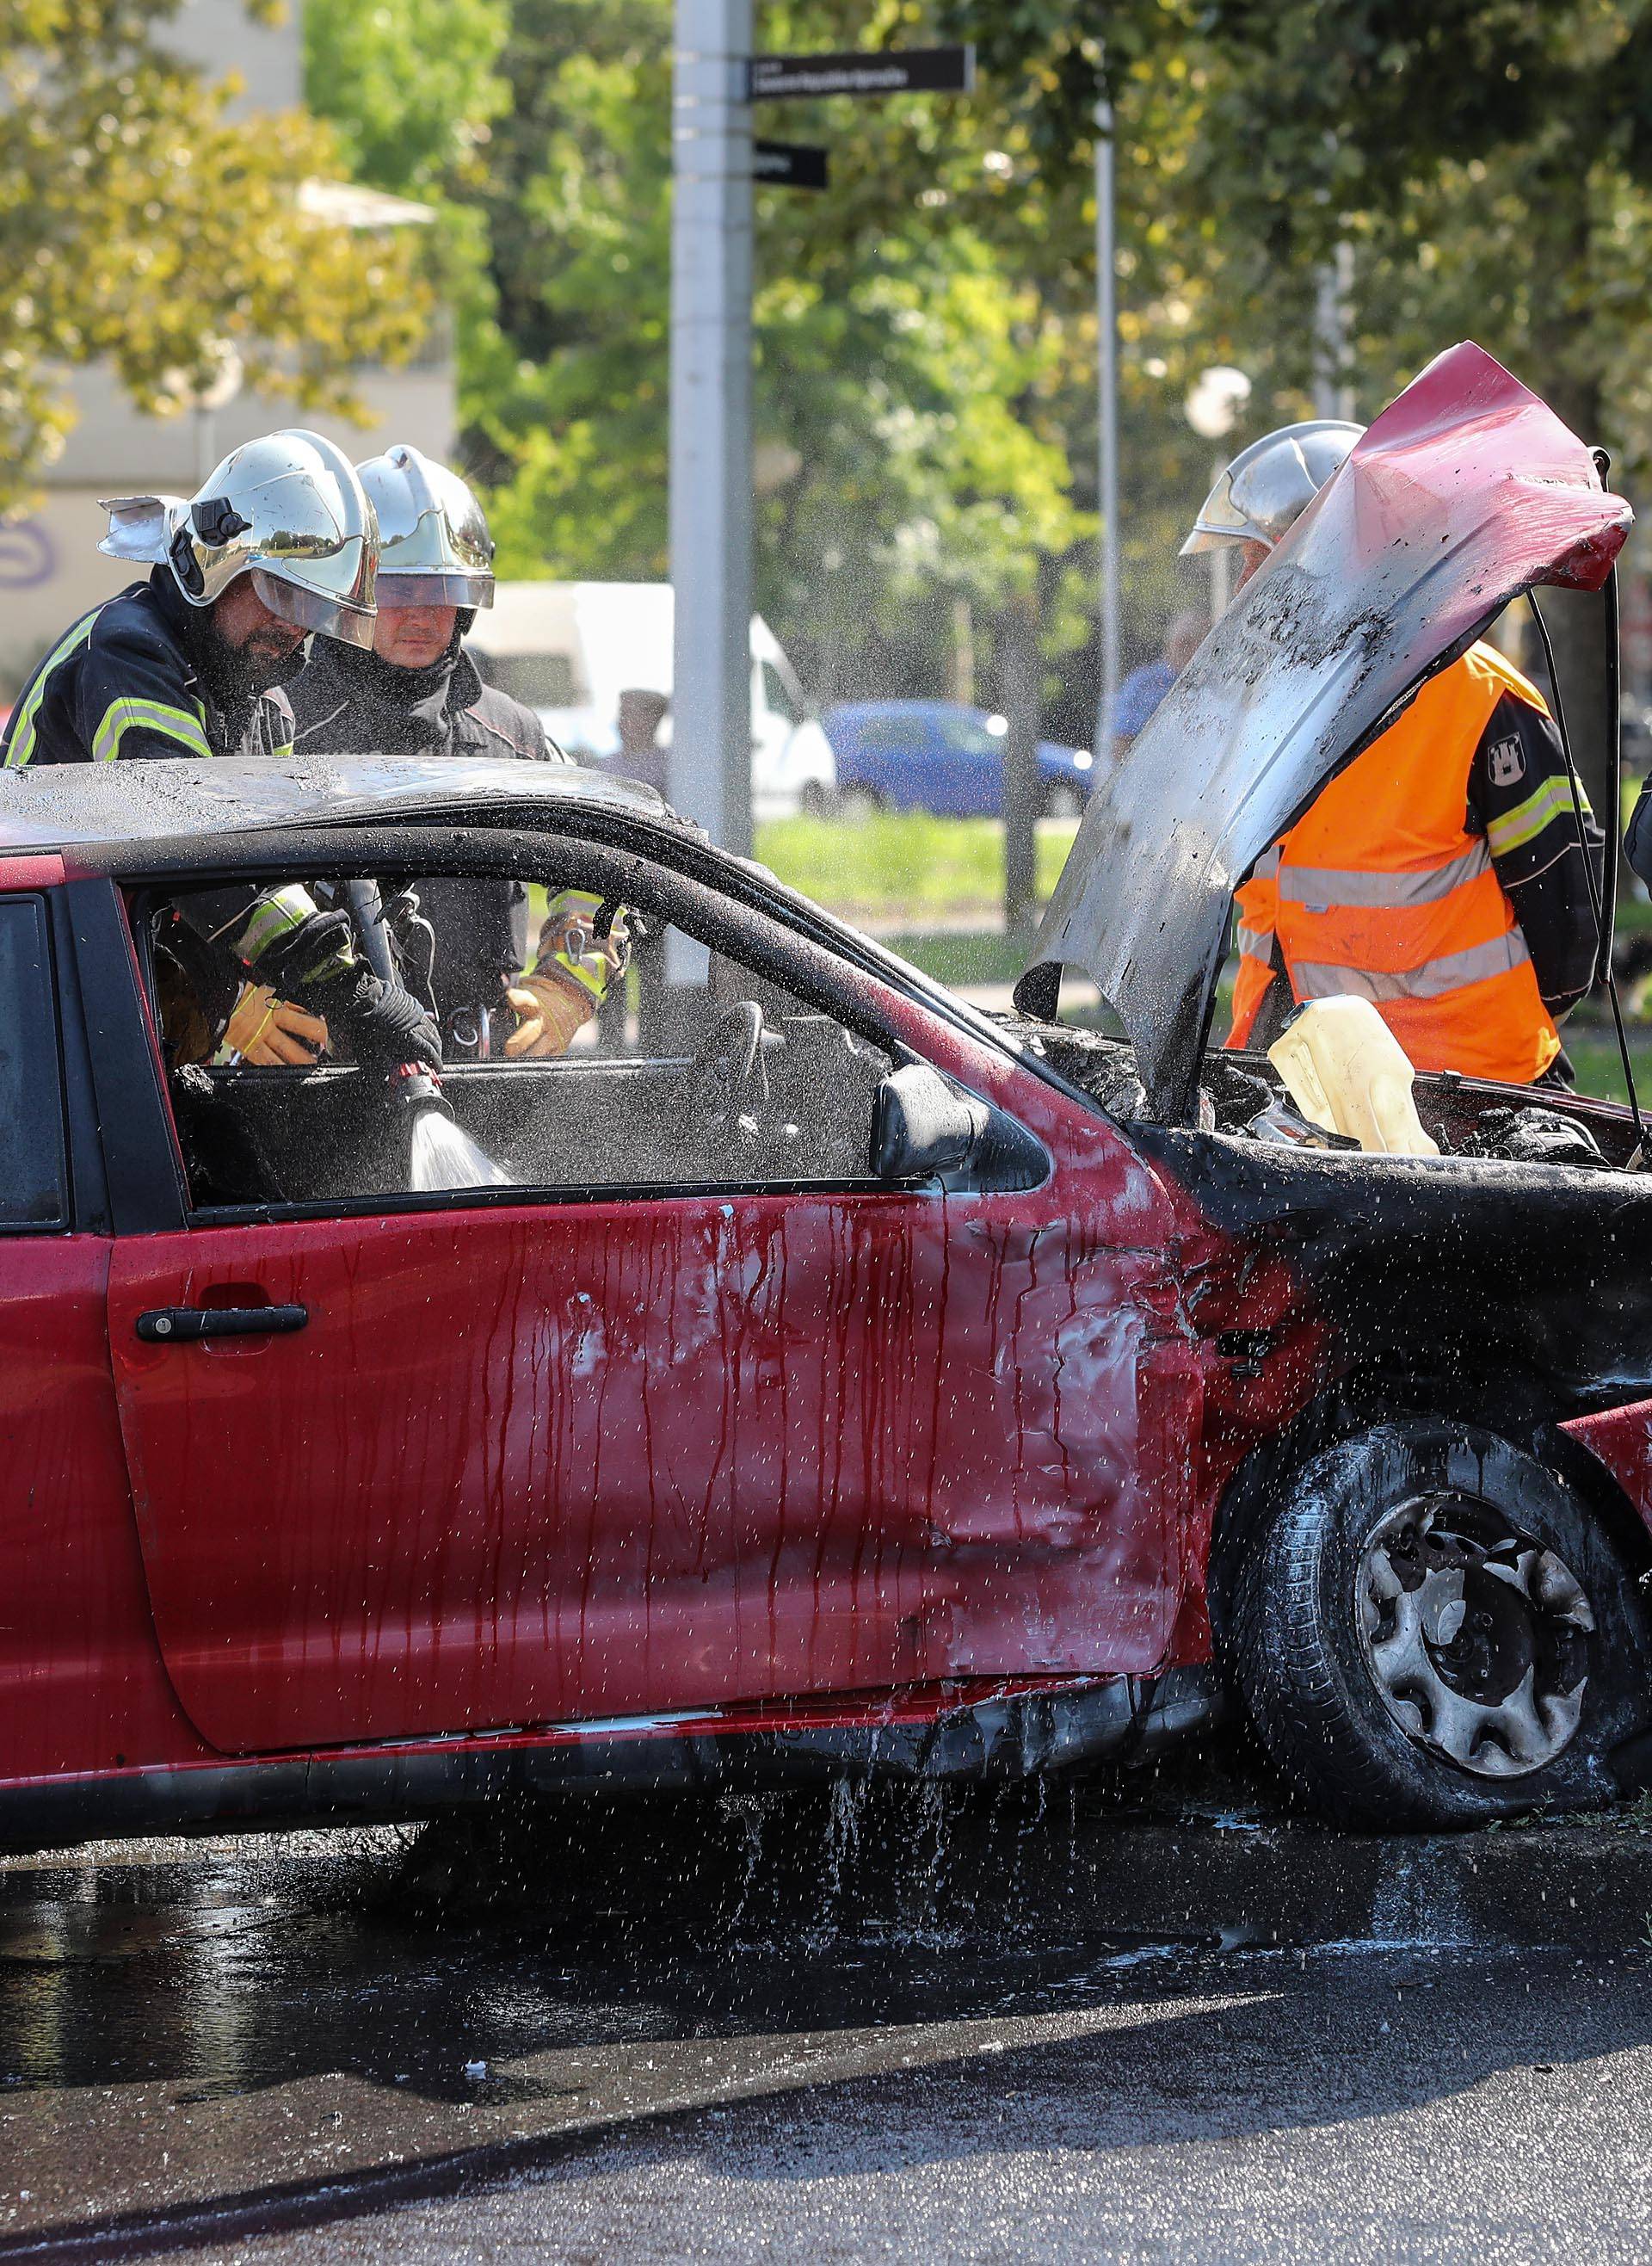
[[[358,2071],[469,2098],[580,2042],[1049,2005],[1097,1931],[1076,1808],[1027,1799],[580,1804],[424,1835],[168,1845],[0,1869],[0,2107]]]

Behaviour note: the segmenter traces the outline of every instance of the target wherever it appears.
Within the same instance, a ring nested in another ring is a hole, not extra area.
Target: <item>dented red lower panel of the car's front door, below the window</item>
[[[1049,1194],[1036,1221],[1024,1194],[639,1194],[122,1242],[111,1346],[193,1722],[249,1752],[1156,1666],[1190,1375],[1140,1260]],[[304,1326],[138,1330],[213,1305]]]

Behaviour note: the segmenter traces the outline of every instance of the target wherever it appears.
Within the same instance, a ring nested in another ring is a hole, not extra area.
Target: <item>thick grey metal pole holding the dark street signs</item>
[[[678,0],[671,95],[673,804],[752,845],[752,0]]]

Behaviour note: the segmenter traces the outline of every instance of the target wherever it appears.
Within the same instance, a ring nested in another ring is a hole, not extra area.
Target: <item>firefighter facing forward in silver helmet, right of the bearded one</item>
[[[494,544],[471,489],[401,444],[356,469],[378,514],[378,619],[372,644],[322,644],[295,680],[297,752],[564,761],[465,648],[476,610],[494,603]],[[605,920],[580,891],[553,893],[528,974],[519,884],[446,875],[419,881],[417,900],[442,1026],[467,1047],[487,1045],[508,1008],[508,1056],[562,1054],[623,968],[623,915]]]

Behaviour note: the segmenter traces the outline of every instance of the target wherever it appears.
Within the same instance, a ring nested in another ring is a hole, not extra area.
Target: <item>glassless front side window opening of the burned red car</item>
[[[555,875],[238,884],[136,927],[197,1206],[872,1178],[884,1049]]]

